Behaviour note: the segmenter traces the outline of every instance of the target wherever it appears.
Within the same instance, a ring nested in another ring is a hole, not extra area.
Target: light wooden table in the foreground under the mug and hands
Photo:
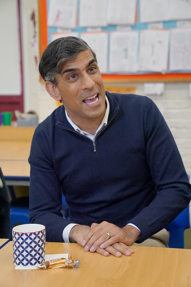
[[[70,253],[80,259],[76,269],[15,270],[12,242],[0,250],[2,287],[186,287],[191,286],[191,250],[139,247],[121,258],[85,252],[78,244],[46,243],[46,254]]]

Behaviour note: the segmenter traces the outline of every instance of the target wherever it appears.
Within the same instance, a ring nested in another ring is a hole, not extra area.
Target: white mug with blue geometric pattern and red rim
[[[19,267],[39,266],[45,261],[45,226],[23,224],[15,226],[13,234],[13,263]]]

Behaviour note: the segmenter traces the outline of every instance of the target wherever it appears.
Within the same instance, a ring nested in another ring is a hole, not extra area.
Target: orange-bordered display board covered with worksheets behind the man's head
[[[39,0],[39,17],[41,52],[81,37],[105,82],[191,81],[191,0]]]

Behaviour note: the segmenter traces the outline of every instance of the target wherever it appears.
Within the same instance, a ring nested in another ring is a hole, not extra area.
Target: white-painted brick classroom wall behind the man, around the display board
[[[30,44],[33,35],[33,25],[30,20],[32,9],[35,9],[36,15],[38,15],[36,0],[21,0],[24,107],[25,111],[36,110],[41,122],[54,110],[56,104],[45,91],[44,85],[39,82],[38,67],[34,62],[34,49]],[[36,24],[38,27],[37,21]],[[132,85],[136,87],[137,94],[144,95],[143,84],[132,83]],[[189,83],[165,83],[162,96],[149,97],[154,100],[167,121],[177,142],[186,171],[191,175],[191,97],[189,97]]]

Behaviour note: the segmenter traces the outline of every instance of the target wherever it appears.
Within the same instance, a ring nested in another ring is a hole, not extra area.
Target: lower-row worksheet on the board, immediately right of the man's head
[[[84,32],[81,38],[94,50],[101,73],[108,70],[108,34],[107,32]]]

